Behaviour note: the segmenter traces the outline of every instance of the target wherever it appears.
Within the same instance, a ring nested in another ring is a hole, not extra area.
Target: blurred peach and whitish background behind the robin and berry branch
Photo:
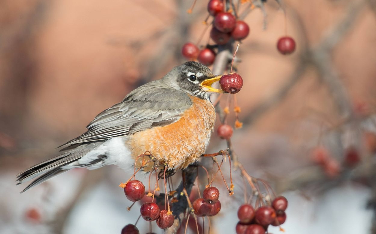
[[[285,233],[376,233],[376,1],[286,0],[286,15],[279,1],[256,2],[264,8],[244,19],[250,34],[237,54],[239,160],[288,198]],[[120,233],[135,222],[139,204],[127,211],[118,184],[128,175],[115,166],[71,170],[23,194],[15,176],[55,156],[131,90],[185,62],[182,45],[196,43],[206,27],[207,1],[187,14],[191,4],[0,2],[1,234]],[[285,33],[297,43],[288,56],[276,49]],[[201,41],[212,43],[209,30]],[[213,134],[208,153],[224,148]],[[323,152],[328,165],[315,163]],[[222,193],[212,233],[235,233],[233,207],[243,192],[234,177],[235,195]],[[138,226],[149,230],[143,220]]]

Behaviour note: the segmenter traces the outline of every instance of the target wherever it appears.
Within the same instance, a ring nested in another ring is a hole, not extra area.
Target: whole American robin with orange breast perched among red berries
[[[20,172],[17,184],[36,178],[24,192],[72,168],[132,169],[146,151],[169,169],[187,167],[209,143],[215,123],[209,98],[224,93],[211,85],[221,76],[197,62],[176,66],[97,115],[85,133],[59,146],[61,154]]]

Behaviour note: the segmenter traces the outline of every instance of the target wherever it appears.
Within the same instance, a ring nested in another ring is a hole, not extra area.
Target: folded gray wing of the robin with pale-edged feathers
[[[151,82],[133,90],[122,102],[97,115],[86,126],[85,133],[59,147],[65,147],[64,150],[70,145],[103,141],[179,120],[191,107],[191,99],[185,92],[161,88],[157,84]]]

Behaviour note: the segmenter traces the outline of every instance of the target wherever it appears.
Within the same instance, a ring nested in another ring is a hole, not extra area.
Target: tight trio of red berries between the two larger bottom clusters
[[[202,194],[203,198],[197,198],[193,204],[194,214],[199,217],[214,216],[221,210],[219,190],[216,187],[207,187]]]

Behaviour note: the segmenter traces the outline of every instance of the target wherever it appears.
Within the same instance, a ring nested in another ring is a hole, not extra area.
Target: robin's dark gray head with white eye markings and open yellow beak
[[[186,62],[171,70],[164,79],[174,89],[183,90],[190,95],[209,99],[212,92],[225,93],[220,89],[212,88],[211,85],[223,75],[213,75],[210,69],[197,62]]]

